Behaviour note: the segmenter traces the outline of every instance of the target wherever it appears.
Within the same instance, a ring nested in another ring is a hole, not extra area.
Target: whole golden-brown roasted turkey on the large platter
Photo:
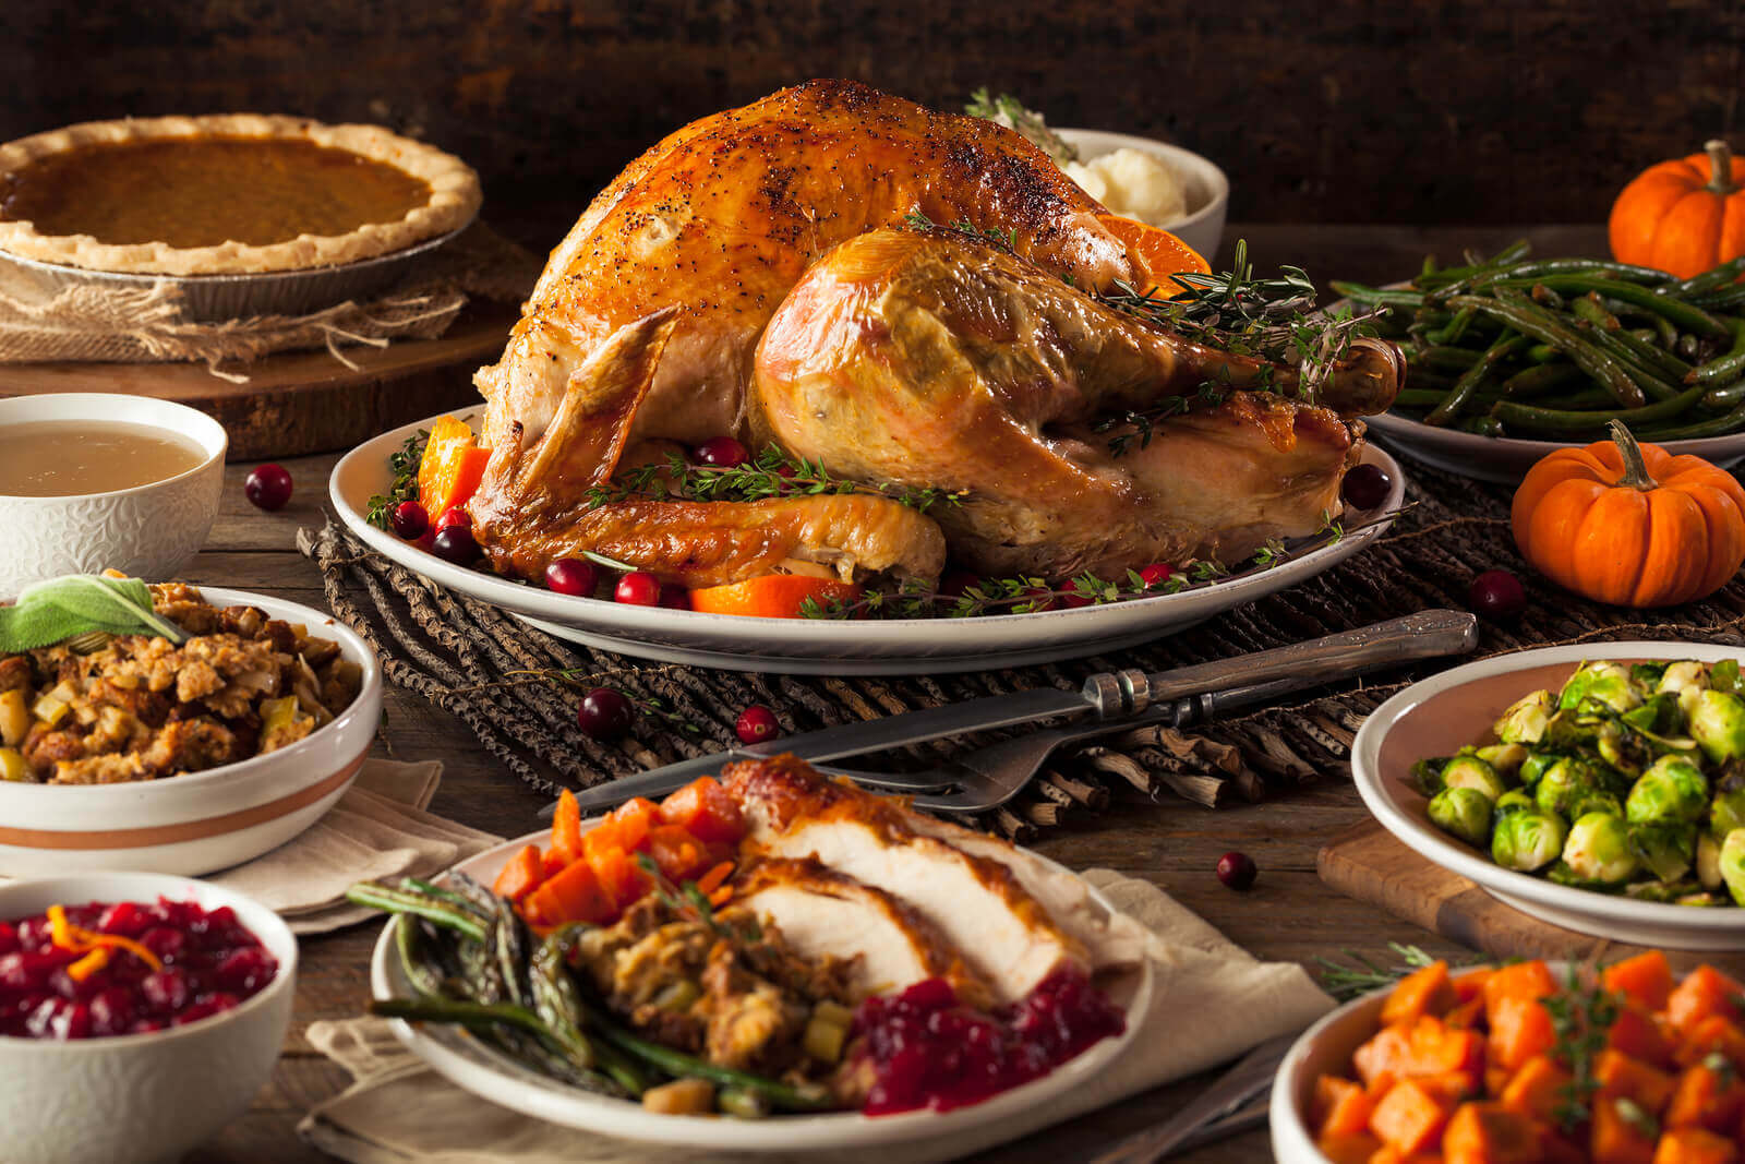
[[[1010,230],[900,229],[913,211]],[[1349,417],[1401,379],[1354,347],[1316,401],[1297,373],[1195,346],[1084,288],[1152,286],[1101,206],[1019,134],[853,82],[705,117],[633,162],[551,253],[476,384],[492,562],[593,550],[691,586],[771,571],[1064,578],[1237,560],[1338,511]],[[1255,380],[1269,391],[1244,391]],[[1220,403],[1115,457],[1096,424],[1218,384]],[[661,442],[733,435],[874,485],[963,490],[691,503],[595,494]],[[937,524],[935,520],[937,518]],[[941,534],[941,525],[944,534]]]

